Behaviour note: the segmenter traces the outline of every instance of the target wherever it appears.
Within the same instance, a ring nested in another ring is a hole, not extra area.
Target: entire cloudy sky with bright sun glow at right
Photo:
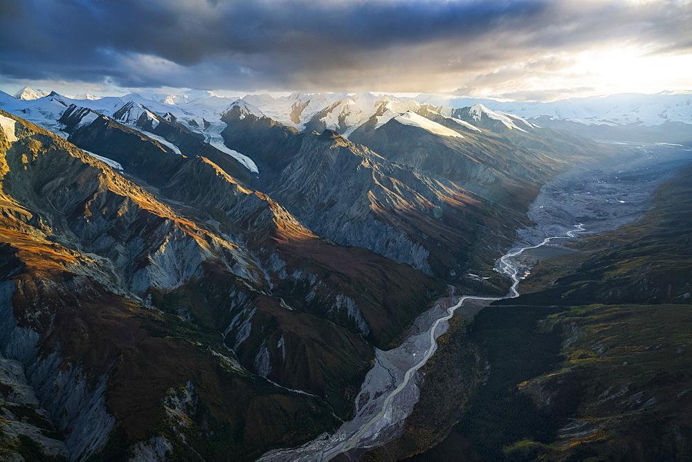
[[[0,0],[0,89],[692,89],[691,0]]]

